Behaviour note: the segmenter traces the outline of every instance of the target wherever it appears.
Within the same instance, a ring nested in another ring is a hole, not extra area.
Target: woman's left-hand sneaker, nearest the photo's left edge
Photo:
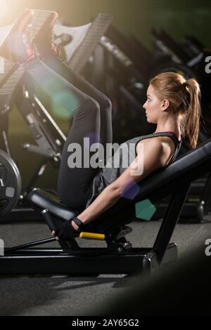
[[[34,58],[34,49],[27,43],[25,30],[32,20],[34,11],[24,9],[0,42],[0,56],[19,65]]]

